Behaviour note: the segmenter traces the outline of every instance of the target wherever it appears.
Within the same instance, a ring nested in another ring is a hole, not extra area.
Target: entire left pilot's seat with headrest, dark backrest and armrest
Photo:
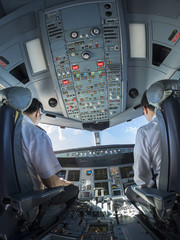
[[[18,239],[36,218],[39,205],[63,191],[33,189],[21,148],[22,112],[31,101],[28,88],[0,91],[0,239]]]

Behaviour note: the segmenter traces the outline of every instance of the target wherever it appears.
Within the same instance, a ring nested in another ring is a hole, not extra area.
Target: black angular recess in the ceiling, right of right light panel
[[[170,52],[171,48],[154,43],[152,64],[159,67],[162,62],[167,58]]]

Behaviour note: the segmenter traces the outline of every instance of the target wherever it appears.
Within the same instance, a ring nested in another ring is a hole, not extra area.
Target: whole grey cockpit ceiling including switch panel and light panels
[[[7,2],[0,84],[30,88],[44,123],[103,130],[141,115],[153,82],[179,77],[177,1],[159,1],[159,14],[154,0]]]

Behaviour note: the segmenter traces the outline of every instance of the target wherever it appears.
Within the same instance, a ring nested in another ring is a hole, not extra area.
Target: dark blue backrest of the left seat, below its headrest
[[[0,197],[9,197],[20,191],[14,166],[15,110],[10,106],[0,107]]]

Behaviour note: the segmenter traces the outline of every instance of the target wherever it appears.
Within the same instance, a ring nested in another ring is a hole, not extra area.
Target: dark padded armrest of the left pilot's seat
[[[19,193],[11,196],[12,206],[20,211],[26,212],[62,192],[64,187],[47,188],[28,193]]]

